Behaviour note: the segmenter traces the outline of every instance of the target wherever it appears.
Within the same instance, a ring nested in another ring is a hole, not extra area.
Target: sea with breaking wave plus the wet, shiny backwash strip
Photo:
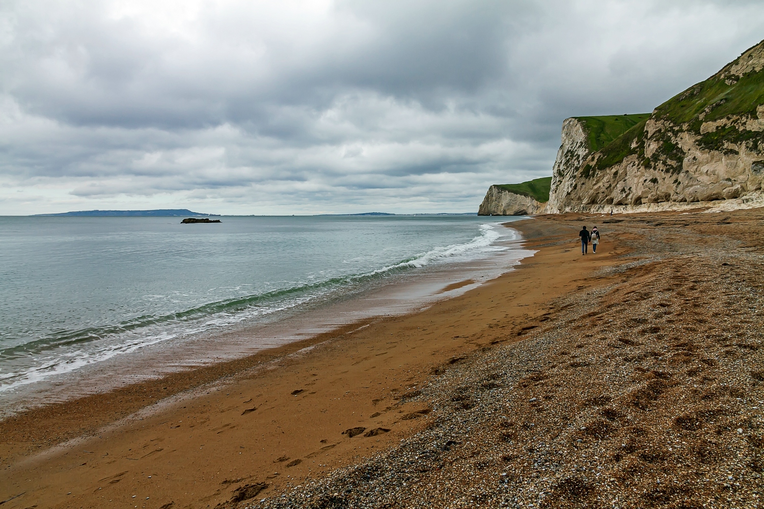
[[[216,218],[0,217],[0,417],[426,308],[533,255],[501,224],[522,217]]]

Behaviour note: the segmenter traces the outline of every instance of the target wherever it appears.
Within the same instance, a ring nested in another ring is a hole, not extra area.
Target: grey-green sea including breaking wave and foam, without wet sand
[[[477,216],[221,219],[0,217],[0,395],[488,259],[516,238]]]

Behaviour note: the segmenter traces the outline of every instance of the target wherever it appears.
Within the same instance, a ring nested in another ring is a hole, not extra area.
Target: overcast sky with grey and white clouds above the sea
[[[759,1],[5,0],[0,214],[477,211],[762,39]]]

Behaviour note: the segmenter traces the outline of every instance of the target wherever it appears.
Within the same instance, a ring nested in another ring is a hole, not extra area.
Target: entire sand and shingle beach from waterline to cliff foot
[[[425,311],[0,422],[0,504],[759,507],[764,211],[511,226]]]

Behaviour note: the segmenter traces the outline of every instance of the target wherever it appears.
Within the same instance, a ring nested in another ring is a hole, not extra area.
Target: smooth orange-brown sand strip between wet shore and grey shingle
[[[688,241],[718,229],[710,216],[685,217],[700,232]],[[739,216],[760,223],[762,213]],[[425,311],[9,418],[0,423],[3,509],[215,507],[243,486],[254,487],[246,498],[271,497],[390,450],[435,418],[416,398],[429,379],[526,340],[566,295],[623,284],[600,269],[649,249],[640,224],[685,221],[624,217],[630,227],[620,229],[576,215],[513,223],[536,255]],[[581,256],[578,229],[593,221],[603,241]]]

